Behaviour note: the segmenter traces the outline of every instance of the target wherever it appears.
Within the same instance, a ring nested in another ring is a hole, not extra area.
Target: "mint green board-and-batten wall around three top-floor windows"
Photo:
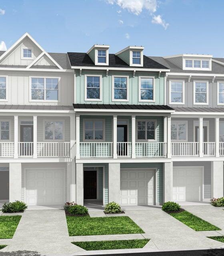
[[[85,101],[85,82],[84,75],[102,75],[102,101]],[[133,72],[108,72],[106,71],[83,71],[82,76],[75,72],[76,76],[76,103],[80,104],[144,104],[144,105],[163,105],[164,104],[164,74],[158,78],[158,73],[136,72],[133,78]],[[129,101],[119,102],[112,101],[112,76],[129,76]],[[155,102],[139,102],[138,86],[139,76],[155,77]]]

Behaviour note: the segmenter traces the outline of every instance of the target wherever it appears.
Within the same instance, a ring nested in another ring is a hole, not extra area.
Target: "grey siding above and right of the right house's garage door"
[[[204,198],[211,198],[211,162],[173,162],[173,166],[204,166]]]

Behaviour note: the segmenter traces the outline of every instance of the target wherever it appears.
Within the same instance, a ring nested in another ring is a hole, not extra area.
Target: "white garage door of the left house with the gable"
[[[26,169],[26,203],[64,204],[64,175],[63,169]]]

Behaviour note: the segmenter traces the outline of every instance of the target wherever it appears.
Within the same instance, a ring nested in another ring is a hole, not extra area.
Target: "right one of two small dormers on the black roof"
[[[143,66],[143,46],[128,46],[115,55],[131,67]]]

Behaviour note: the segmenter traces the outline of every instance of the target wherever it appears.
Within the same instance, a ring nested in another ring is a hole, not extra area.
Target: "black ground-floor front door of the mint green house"
[[[97,171],[84,171],[84,199],[97,199],[96,192]]]

